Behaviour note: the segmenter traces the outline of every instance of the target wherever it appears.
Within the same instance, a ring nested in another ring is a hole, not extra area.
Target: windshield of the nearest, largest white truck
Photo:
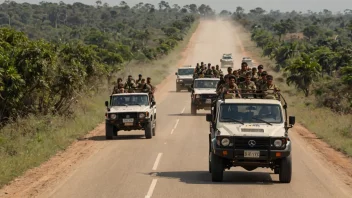
[[[220,122],[282,123],[281,107],[276,104],[221,104]]]

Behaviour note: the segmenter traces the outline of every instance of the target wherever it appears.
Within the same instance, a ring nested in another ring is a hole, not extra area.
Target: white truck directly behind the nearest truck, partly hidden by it
[[[191,113],[197,114],[197,110],[211,109],[211,102],[217,97],[216,87],[219,78],[197,78],[191,88]]]

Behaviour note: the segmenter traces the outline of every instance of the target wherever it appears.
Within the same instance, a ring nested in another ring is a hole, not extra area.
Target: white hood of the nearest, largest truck
[[[217,126],[220,135],[225,136],[262,136],[282,137],[285,135],[284,124],[273,124],[272,126],[263,123],[219,123]]]

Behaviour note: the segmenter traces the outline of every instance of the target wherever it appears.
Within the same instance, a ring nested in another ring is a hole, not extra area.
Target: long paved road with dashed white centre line
[[[228,22],[201,22],[184,64],[218,63],[222,53],[241,58],[243,52],[235,34]],[[290,131],[290,184],[279,183],[278,175],[261,168],[251,172],[232,168],[225,171],[223,183],[212,183],[208,173],[207,111],[190,114],[190,93],[175,92],[175,76],[164,81],[157,92],[157,131],[153,139],[144,139],[143,131],[132,131],[106,141],[101,128],[96,136],[82,140],[93,142],[94,152],[37,197],[352,197],[351,188],[294,130]]]

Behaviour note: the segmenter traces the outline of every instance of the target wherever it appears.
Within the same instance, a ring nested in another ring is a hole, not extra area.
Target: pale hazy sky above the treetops
[[[4,0],[1,0],[2,2]],[[18,3],[39,3],[41,1],[59,2],[59,0],[14,0]],[[64,3],[72,4],[74,2],[82,2],[84,4],[94,5],[96,0],[62,0]],[[125,0],[130,6],[139,2],[151,3],[157,5],[161,0]],[[328,9],[332,12],[343,12],[345,9],[352,10],[352,0],[165,0],[170,5],[179,4],[181,6],[186,4],[206,4],[215,9],[217,12],[221,10],[235,11],[237,6],[243,7],[246,11],[261,7],[264,10],[280,10],[286,11],[302,11],[311,10],[319,12],[323,9]],[[118,5],[120,0],[102,0],[103,3],[108,3],[110,6]]]

